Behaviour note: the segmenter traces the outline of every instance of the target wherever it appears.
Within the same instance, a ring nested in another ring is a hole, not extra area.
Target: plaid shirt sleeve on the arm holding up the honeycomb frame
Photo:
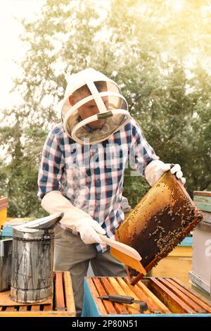
[[[146,141],[143,132],[134,118],[132,124],[132,144],[129,150],[129,162],[132,168],[138,171],[139,175],[144,176],[146,166],[159,157],[155,154],[154,149]],[[135,174],[134,174],[135,175]]]

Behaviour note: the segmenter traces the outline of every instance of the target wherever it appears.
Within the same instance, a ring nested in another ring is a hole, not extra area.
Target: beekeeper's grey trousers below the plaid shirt
[[[81,237],[57,225],[54,242],[54,270],[70,271],[77,316],[82,313],[84,277],[87,275],[89,262],[95,276],[126,276],[124,264],[108,251],[99,255],[94,244],[84,244]]]

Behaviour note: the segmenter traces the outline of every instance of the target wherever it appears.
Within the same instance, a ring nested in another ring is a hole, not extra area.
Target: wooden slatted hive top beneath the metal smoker
[[[0,301],[6,292],[0,293]],[[2,298],[1,298],[2,296]],[[0,305],[0,317],[70,317],[76,316],[72,292],[72,282],[69,271],[53,273],[53,298],[48,304],[19,304],[4,300],[5,306]]]

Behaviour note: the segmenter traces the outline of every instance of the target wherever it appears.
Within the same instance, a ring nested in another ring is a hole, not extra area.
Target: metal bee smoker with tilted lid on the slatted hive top
[[[54,228],[63,213],[13,227],[11,299],[30,304],[53,294]]]

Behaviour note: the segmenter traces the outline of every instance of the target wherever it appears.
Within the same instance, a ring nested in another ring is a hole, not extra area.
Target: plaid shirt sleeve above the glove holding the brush
[[[38,174],[39,200],[51,191],[60,187],[60,177],[63,173],[63,154],[59,146],[58,137],[49,132],[41,156]]]

